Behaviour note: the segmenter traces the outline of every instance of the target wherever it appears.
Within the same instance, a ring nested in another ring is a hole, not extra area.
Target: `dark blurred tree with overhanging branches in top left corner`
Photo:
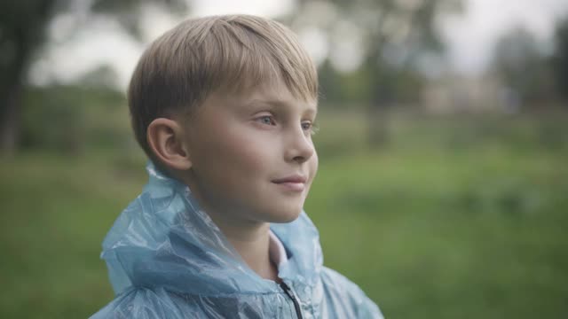
[[[75,29],[104,15],[130,35],[141,34],[140,10],[160,6],[172,13],[185,12],[185,0],[19,0],[0,2],[0,153],[15,152],[20,139],[21,94],[28,67],[51,39],[51,20],[71,15]]]

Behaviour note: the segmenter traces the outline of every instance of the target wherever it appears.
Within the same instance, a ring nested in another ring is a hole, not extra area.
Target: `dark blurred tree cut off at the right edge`
[[[555,51],[552,66],[555,73],[556,90],[568,100],[568,17],[559,20],[555,30]]]

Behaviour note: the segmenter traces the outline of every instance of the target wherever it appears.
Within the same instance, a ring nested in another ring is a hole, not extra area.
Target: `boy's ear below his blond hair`
[[[192,167],[184,131],[176,121],[155,119],[148,125],[146,138],[155,157],[167,167],[178,170]]]

